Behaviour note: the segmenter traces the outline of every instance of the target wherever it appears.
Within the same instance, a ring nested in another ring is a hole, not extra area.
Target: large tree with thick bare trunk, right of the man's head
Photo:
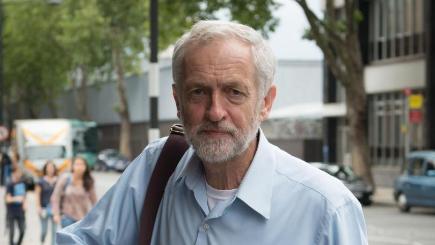
[[[355,172],[375,186],[369,163],[367,141],[367,96],[364,90],[364,67],[358,38],[358,24],[363,16],[357,0],[346,0],[337,12],[334,0],[326,1],[326,11],[319,18],[305,0],[295,0],[310,24],[306,37],[316,41],[325,61],[346,93],[347,121],[352,144]]]

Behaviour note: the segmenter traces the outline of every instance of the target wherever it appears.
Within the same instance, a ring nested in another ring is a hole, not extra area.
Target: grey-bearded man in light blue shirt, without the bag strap
[[[172,65],[190,148],[167,182],[151,244],[367,244],[361,205],[346,187],[261,131],[277,89],[259,33],[200,21],[176,43]],[[58,233],[58,244],[137,243],[166,140],[148,145],[88,216]]]

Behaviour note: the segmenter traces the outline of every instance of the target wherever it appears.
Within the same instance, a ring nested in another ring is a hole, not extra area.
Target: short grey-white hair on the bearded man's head
[[[270,88],[275,75],[275,57],[272,49],[260,33],[249,26],[219,20],[202,20],[192,26],[175,43],[172,55],[172,78],[177,87],[183,81],[184,56],[192,43],[210,42],[217,39],[234,38],[251,46],[256,70],[258,94],[263,97]]]

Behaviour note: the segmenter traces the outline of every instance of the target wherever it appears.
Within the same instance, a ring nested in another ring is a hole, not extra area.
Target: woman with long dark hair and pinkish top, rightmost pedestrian
[[[94,178],[87,161],[76,157],[71,173],[62,175],[51,197],[54,222],[62,227],[82,219],[97,202]]]

